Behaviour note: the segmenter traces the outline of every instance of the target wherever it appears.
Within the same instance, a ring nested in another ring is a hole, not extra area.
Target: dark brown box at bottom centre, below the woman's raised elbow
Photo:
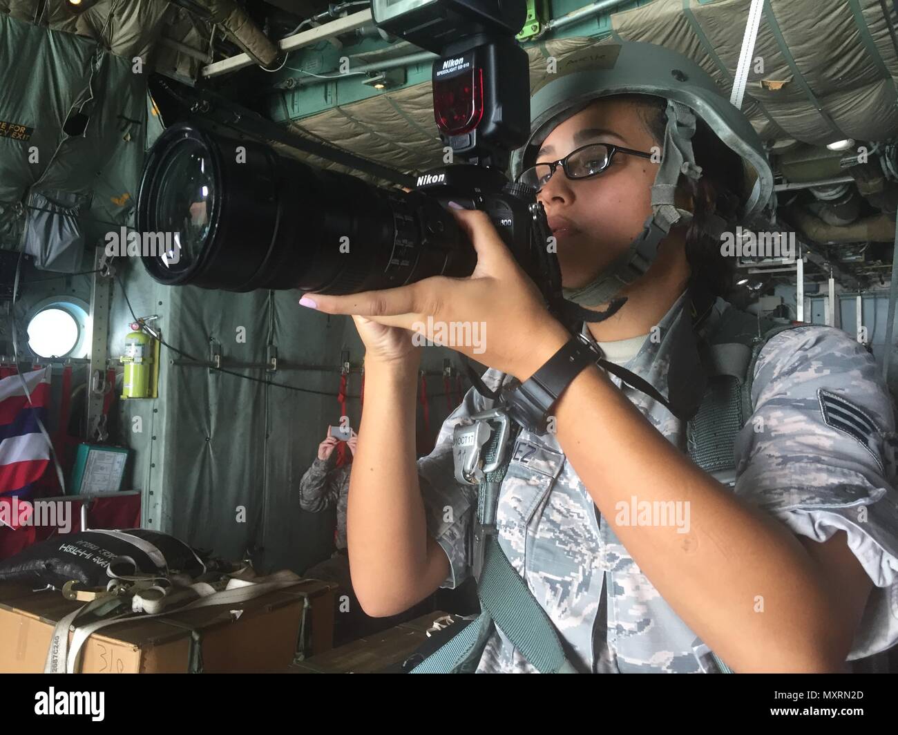
[[[409,658],[427,641],[427,628],[444,615],[439,611],[421,615],[382,633],[297,661],[287,671],[291,674],[374,674]]]

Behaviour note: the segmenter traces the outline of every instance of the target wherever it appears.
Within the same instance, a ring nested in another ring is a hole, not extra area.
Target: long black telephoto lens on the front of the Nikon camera
[[[147,155],[136,224],[166,238],[165,252],[142,260],[172,286],[340,295],[468,276],[477,261],[432,196],[380,189],[187,123]]]

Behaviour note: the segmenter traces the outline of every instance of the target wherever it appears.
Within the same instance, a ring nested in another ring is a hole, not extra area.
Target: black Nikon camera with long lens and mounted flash
[[[434,116],[453,163],[410,191],[314,169],[262,143],[198,124],[168,128],[147,155],[136,225],[170,233],[143,258],[167,285],[352,294],[435,275],[464,277],[477,261],[448,211],[485,211],[515,260],[550,300],[560,273],[536,191],[508,182],[511,152],[530,125],[528,57],[515,40],[526,3],[382,0],[374,22],[440,55]]]

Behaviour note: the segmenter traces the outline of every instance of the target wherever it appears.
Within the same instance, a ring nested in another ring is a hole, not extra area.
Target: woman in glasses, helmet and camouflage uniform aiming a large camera
[[[698,295],[719,296],[726,283],[721,230],[769,199],[760,140],[699,66],[644,43],[602,44],[559,63],[534,93],[533,120],[515,173],[549,164],[535,178],[537,198],[566,295],[596,309],[627,297],[586,333],[606,359],[694,412],[704,385]],[[594,171],[560,163],[597,144]],[[673,180],[649,157],[658,149],[663,160],[682,155]],[[486,323],[485,353],[455,349],[491,368],[490,388],[507,376],[523,382],[570,337],[489,218],[456,217],[478,253],[470,278],[301,302],[354,314],[367,348],[348,548],[370,615],[471,574],[476,488],[454,478],[453,427],[491,403],[469,392],[416,464],[412,324]],[[633,245],[659,222],[656,253],[637,277],[625,274],[621,262],[632,269]],[[718,298],[700,315],[725,311]],[[519,434],[499,494],[498,545],[575,669],[707,671],[711,650],[739,672],[836,671],[898,640],[894,413],[872,356],[834,328],[782,332],[753,366],[750,403],[733,488],[691,461],[681,418],[595,366],[552,406],[554,432]],[[641,509],[659,507],[682,513],[675,523],[643,518]],[[479,655],[479,671],[534,670],[498,629]]]

